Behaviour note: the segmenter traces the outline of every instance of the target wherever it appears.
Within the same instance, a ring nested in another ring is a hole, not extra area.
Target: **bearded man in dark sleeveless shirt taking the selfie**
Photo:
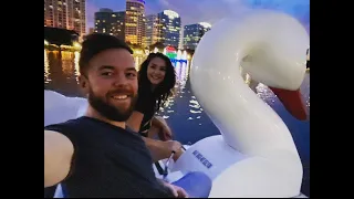
[[[106,34],[83,42],[80,85],[88,107],[83,117],[44,128],[44,187],[61,184],[70,198],[188,197],[155,178],[145,143],[126,127],[137,95],[132,53]]]

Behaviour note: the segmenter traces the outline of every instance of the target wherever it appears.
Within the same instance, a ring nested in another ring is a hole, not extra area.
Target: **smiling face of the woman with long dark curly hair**
[[[166,63],[160,57],[154,57],[147,66],[147,78],[153,85],[162,83],[166,75]]]

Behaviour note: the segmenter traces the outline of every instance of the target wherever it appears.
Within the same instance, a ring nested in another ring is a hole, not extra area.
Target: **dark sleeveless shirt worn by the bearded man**
[[[61,182],[65,197],[173,197],[155,178],[138,134],[90,117],[44,129],[62,133],[74,145],[72,168]]]

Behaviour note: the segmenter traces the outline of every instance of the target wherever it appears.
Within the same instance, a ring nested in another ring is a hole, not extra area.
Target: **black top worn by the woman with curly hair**
[[[144,114],[139,133],[140,135],[146,136],[146,132],[150,128],[152,119],[156,113],[156,100],[150,90],[139,88],[135,111]]]

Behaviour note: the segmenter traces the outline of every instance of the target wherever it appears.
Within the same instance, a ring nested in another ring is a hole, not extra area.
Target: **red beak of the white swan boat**
[[[296,91],[289,91],[275,87],[269,87],[283,103],[288,112],[299,121],[306,121],[308,114],[305,104],[303,103],[300,88]]]

